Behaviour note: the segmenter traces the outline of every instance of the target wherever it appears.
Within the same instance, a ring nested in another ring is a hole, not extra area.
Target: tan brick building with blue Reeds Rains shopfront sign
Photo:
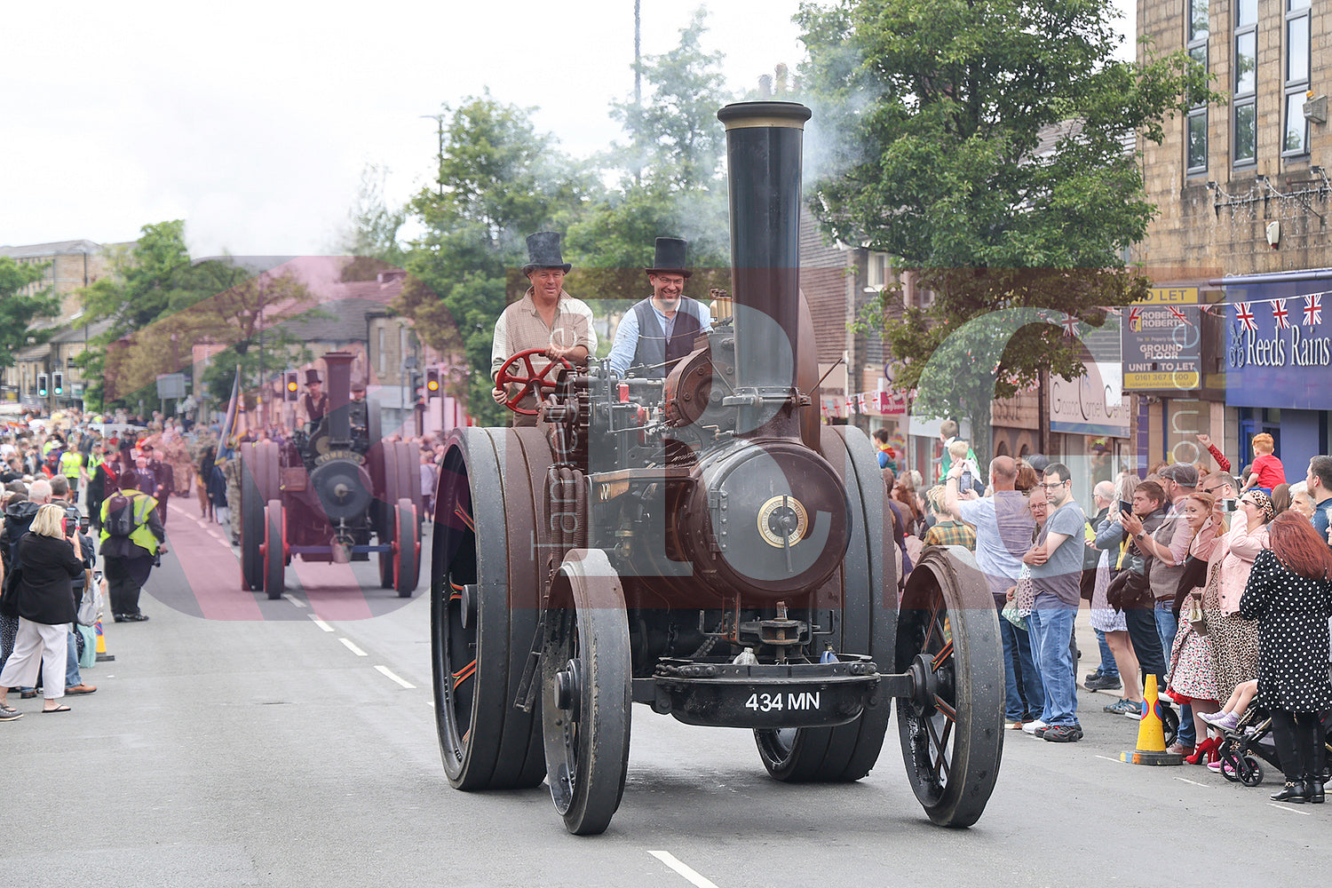
[[[1323,333],[1304,324],[1304,297],[1332,290],[1332,20],[1312,0],[1139,0],[1138,33],[1204,61],[1228,97],[1167,122],[1160,145],[1139,145],[1159,213],[1132,260],[1159,286],[1196,290],[1211,306],[1196,316],[1192,387],[1138,391],[1140,459],[1189,459],[1192,434],[1204,431],[1239,469],[1248,438],[1268,430],[1284,435],[1277,454],[1296,481],[1309,455],[1328,453],[1332,409],[1332,366],[1296,363],[1300,342],[1307,357]],[[1236,304],[1251,306],[1256,329]],[[1280,365],[1245,359],[1267,341],[1284,343]]]

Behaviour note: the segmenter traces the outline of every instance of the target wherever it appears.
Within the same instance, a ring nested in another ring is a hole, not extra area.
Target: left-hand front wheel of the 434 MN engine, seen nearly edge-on
[[[601,550],[569,551],[551,588],[541,650],[550,797],[578,836],[605,832],[629,768],[629,619]]]

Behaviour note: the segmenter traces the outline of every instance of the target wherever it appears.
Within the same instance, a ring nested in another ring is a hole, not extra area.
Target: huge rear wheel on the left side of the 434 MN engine
[[[457,429],[440,473],[432,672],[440,755],[458,789],[526,788],[546,775],[537,700],[515,706],[541,604],[546,537],[531,478],[545,478],[551,455],[539,431]]]

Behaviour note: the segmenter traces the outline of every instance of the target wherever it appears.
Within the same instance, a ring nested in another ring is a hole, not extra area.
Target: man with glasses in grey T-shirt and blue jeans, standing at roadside
[[[1036,545],[1023,556],[1031,566],[1036,600],[1027,618],[1031,648],[1046,692],[1035,736],[1050,743],[1076,743],[1083,738],[1078,723],[1078,675],[1074,664],[1074,616],[1082,603],[1083,541],[1087,515],[1074,499],[1072,474],[1062,462],[1046,466],[1044,483],[1050,518],[1036,535]]]

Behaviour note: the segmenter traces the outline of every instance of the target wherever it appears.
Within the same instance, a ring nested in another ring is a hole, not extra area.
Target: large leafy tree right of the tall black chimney
[[[1092,306],[1146,294],[1123,257],[1155,208],[1126,136],[1159,142],[1176,111],[1217,99],[1183,52],[1115,60],[1115,16],[1110,0],[842,0],[797,16],[810,51],[801,84],[822,121],[811,208],[827,234],[896,257],[935,297],[900,321],[887,320],[899,289],[871,306],[898,383],[920,383],[972,318],[1054,310],[1054,324],[1016,330],[999,370],[988,357],[958,363],[952,382],[935,377],[951,389],[926,394],[935,415],[962,405],[978,451],[990,441],[978,391],[1082,373],[1060,317],[1099,325]],[[959,354],[988,355],[967,339],[983,328],[967,329]]]

